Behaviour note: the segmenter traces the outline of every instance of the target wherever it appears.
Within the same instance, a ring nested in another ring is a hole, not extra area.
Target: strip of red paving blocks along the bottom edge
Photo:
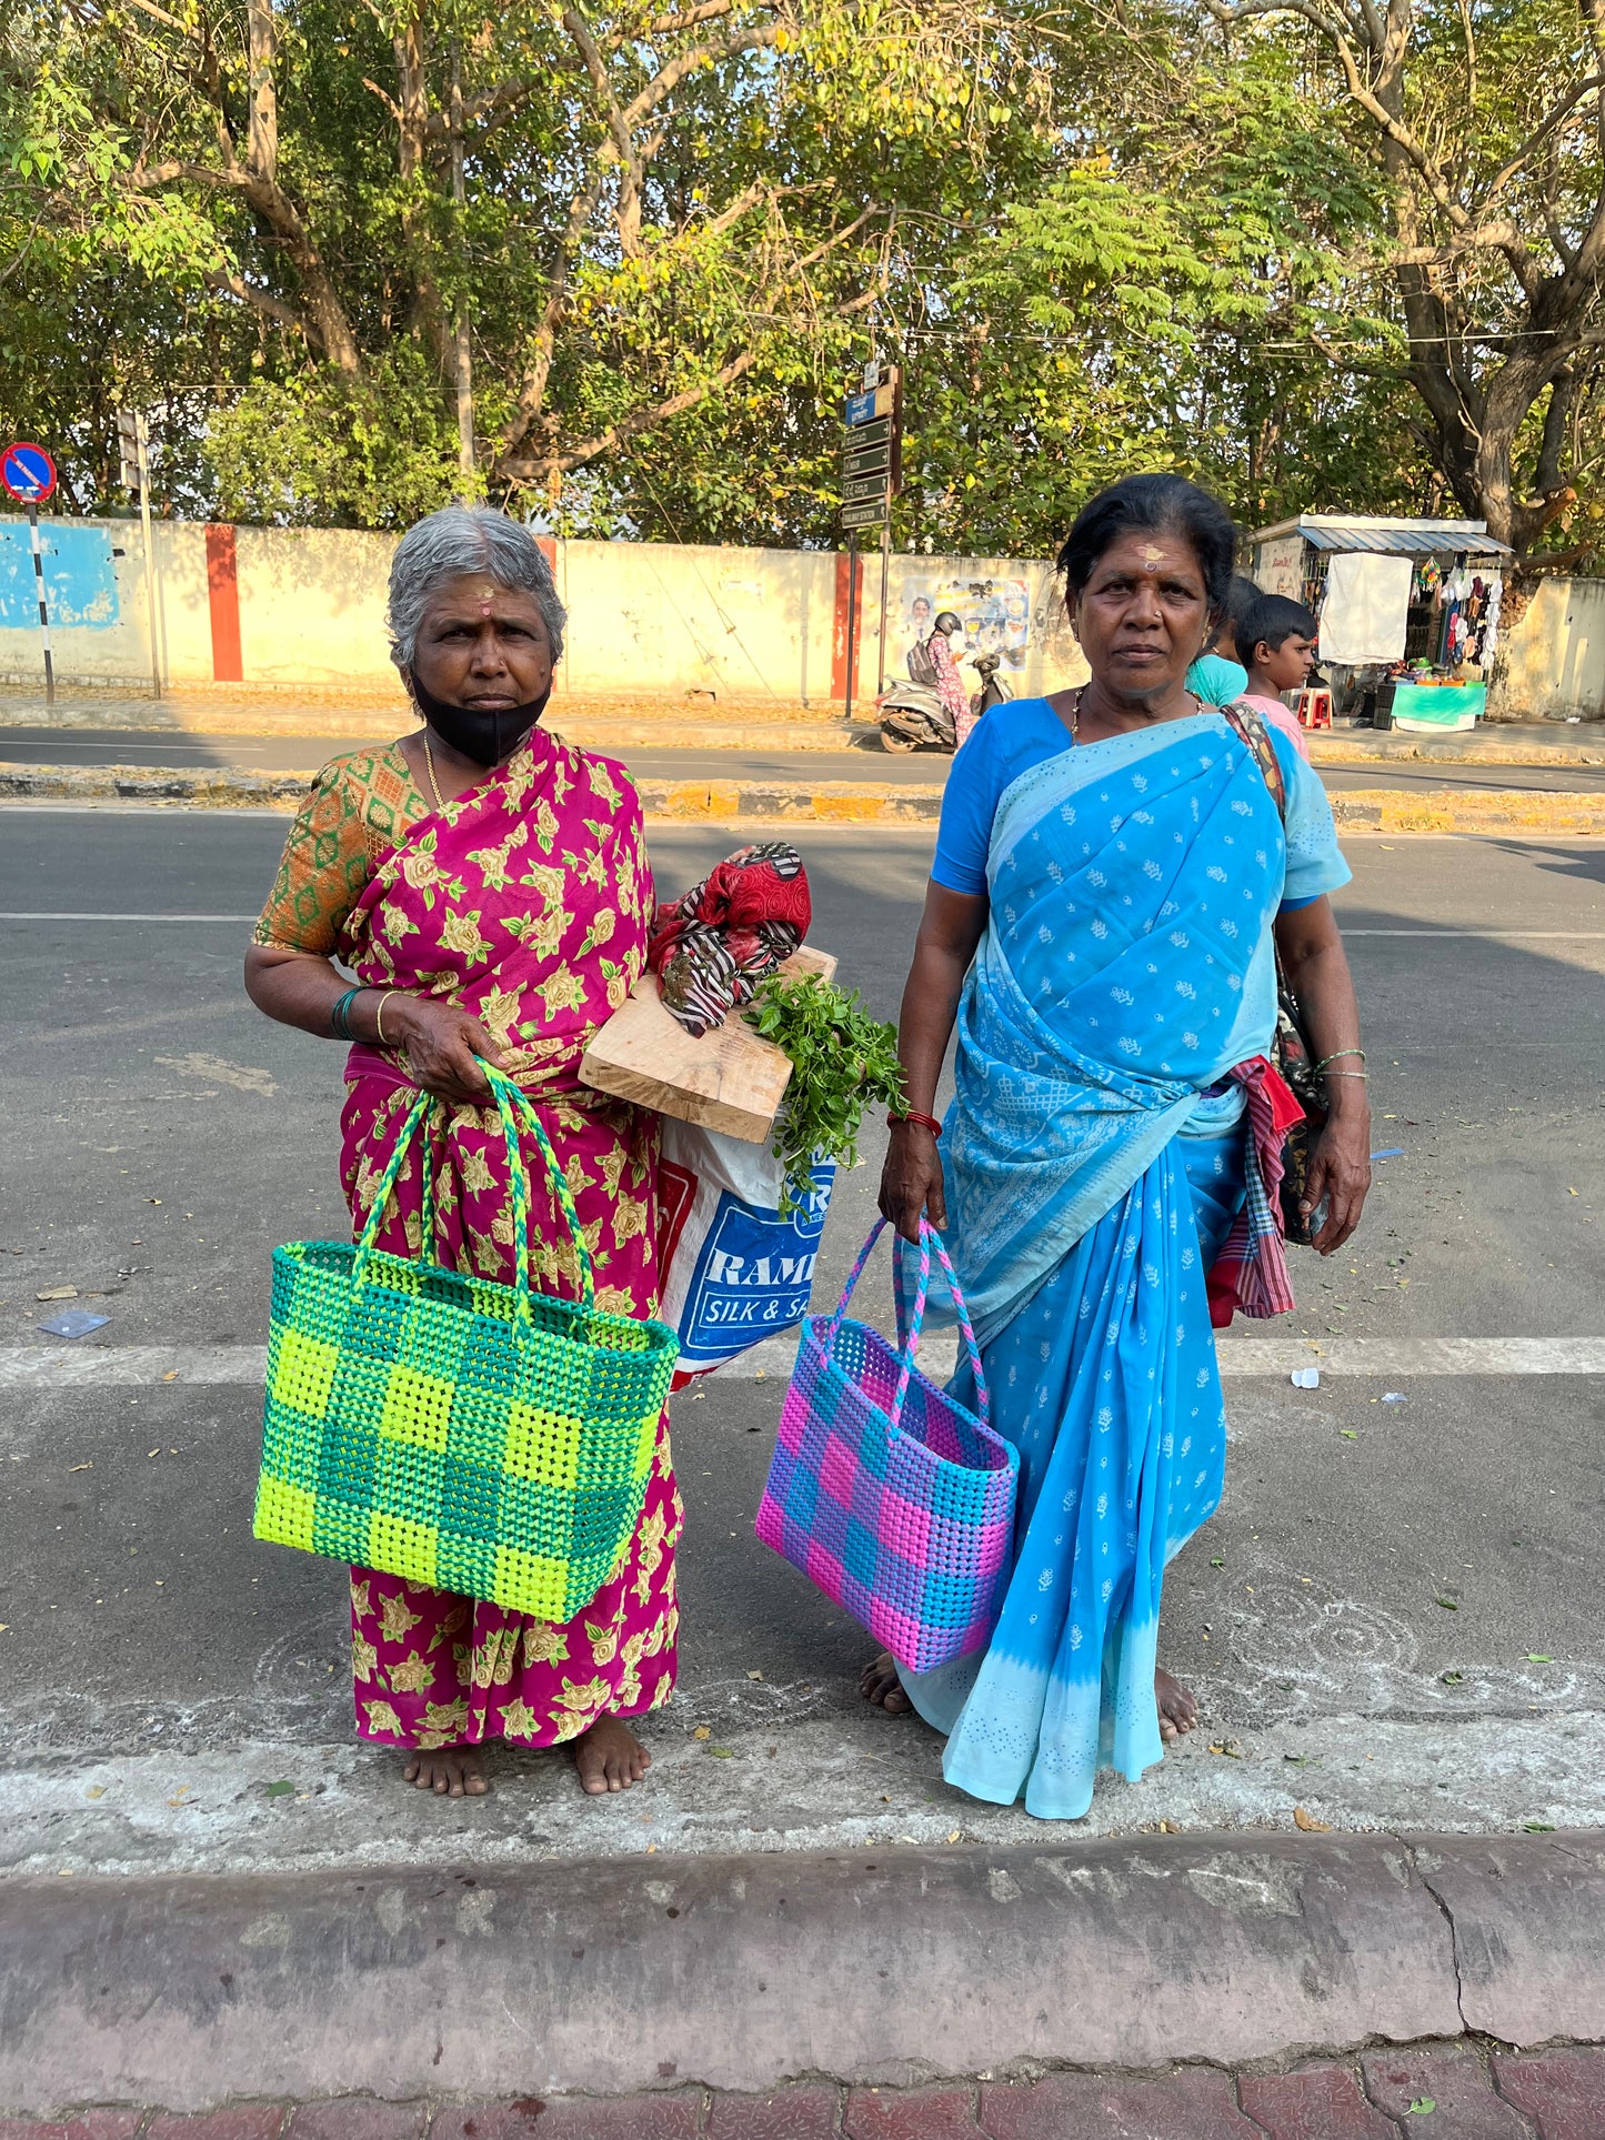
[[[1599,2140],[1605,2048],[1412,2044],[1286,2072],[1059,2072],[929,2089],[383,2101],[340,2095],[173,2116],[2,2119],[0,2140]]]

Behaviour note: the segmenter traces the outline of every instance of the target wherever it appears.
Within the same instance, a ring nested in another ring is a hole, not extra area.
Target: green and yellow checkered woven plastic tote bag
[[[535,1109],[488,1064],[507,1141],[518,1284],[374,1248],[419,1094],[355,1245],[274,1250],[259,1539],[571,1620],[640,1522],[678,1340],[601,1314],[574,1196]],[[574,1235],[580,1301],[529,1290],[533,1132]],[[434,1198],[424,1171],[424,1243]]]

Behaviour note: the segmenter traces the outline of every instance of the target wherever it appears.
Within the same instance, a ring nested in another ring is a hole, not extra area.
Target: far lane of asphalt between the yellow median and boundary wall
[[[253,773],[300,773],[357,749],[351,736],[197,736],[182,730],[128,728],[0,728],[0,764],[28,766],[173,766]],[[666,781],[873,781],[875,785],[942,785],[952,764],[942,751],[888,755],[865,740],[847,751],[728,751],[621,749],[616,753],[642,779]],[[1522,794],[1594,794],[1605,788],[1605,766],[1494,766],[1444,760],[1385,760],[1359,766],[1323,766],[1329,790],[1344,788],[1479,788]]]

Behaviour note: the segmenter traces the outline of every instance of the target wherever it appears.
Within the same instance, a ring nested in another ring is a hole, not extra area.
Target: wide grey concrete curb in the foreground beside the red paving
[[[24,1879],[0,1926],[0,2101],[30,2110],[899,2086],[1605,2014],[1588,1834]]]

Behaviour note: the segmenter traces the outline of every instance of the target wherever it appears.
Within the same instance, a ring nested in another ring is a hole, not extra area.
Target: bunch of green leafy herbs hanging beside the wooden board
[[[897,1027],[871,1019],[852,995],[820,974],[760,984],[747,1023],[790,1057],[792,1081],[775,1121],[775,1156],[785,1160],[781,1213],[802,1205],[813,1186],[813,1160],[858,1160],[858,1124],[871,1100],[901,1111],[903,1066]]]

